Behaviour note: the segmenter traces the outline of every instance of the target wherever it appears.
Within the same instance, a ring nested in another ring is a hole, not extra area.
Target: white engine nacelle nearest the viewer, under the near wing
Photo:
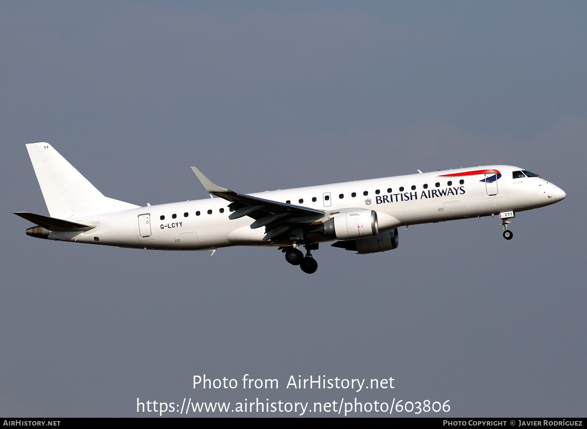
[[[339,213],[324,222],[324,234],[337,240],[362,239],[379,232],[375,210]]]

